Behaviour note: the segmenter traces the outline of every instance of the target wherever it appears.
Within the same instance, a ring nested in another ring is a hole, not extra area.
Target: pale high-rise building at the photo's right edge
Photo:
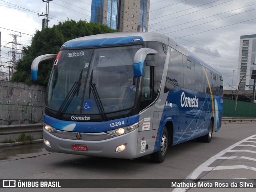
[[[252,90],[253,79],[251,79],[252,70],[255,70],[256,63],[256,34],[240,36],[238,77],[237,85],[239,89]],[[246,75],[246,76],[244,76]],[[244,77],[244,78],[243,78]]]

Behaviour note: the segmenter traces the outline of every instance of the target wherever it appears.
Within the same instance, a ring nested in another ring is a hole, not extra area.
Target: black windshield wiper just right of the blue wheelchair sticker
[[[93,70],[92,70],[92,73],[93,73]],[[90,88],[89,88],[89,99],[90,99],[90,95],[91,95],[91,91],[92,91],[92,94],[93,94],[93,97],[95,99],[96,105],[97,105],[98,110],[100,112],[100,117],[102,117],[103,119],[106,119],[107,117],[106,117],[103,105],[102,105],[102,103],[100,101],[100,96],[99,96],[98,91],[96,89],[96,84],[92,83],[92,73],[91,73],[90,82],[89,82],[89,85],[90,85]]]

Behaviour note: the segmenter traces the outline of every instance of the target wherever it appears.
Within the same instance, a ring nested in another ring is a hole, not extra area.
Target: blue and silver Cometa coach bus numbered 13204
[[[44,147],[110,158],[151,155],[221,127],[222,75],[167,36],[120,32],[77,38],[55,59],[46,93]]]

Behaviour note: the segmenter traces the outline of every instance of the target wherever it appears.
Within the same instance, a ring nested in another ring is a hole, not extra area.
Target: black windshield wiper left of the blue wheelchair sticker
[[[78,93],[80,90],[80,86],[81,86],[81,80],[82,80],[82,73],[83,73],[83,69],[80,72],[80,76],[78,81],[76,81],[74,83],[74,85],[71,87],[71,89],[68,91],[68,95],[65,97],[64,101],[62,102],[62,104],[60,105],[60,109],[58,110],[57,113],[57,117],[60,117],[60,113],[65,112],[68,109],[68,106],[70,105],[74,95],[76,94],[76,97],[78,97]],[[65,106],[65,108],[64,108]],[[64,109],[63,109],[64,108]]]

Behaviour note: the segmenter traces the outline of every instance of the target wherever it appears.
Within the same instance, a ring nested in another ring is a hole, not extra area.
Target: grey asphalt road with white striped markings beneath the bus
[[[162,164],[52,153],[41,144],[0,148],[0,179],[256,179],[256,124],[222,125],[211,143],[189,141],[168,148]],[[171,192],[255,191],[255,188],[1,188],[13,191]]]

